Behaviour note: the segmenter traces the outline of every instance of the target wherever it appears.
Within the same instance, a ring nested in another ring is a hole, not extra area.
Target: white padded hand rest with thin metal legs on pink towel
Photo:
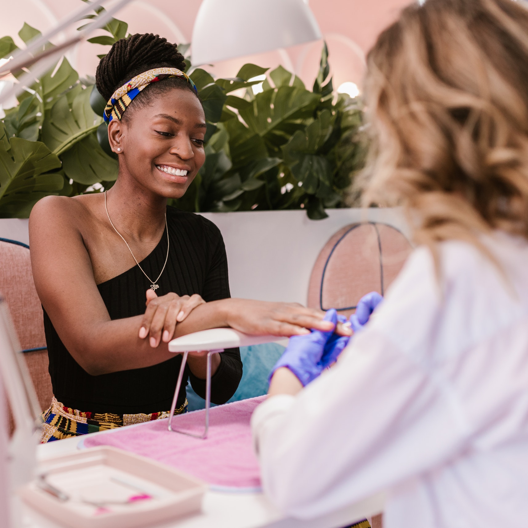
[[[280,343],[286,344],[287,337],[279,337],[275,335],[254,336],[243,334],[233,328],[211,328],[209,330],[202,330],[201,332],[194,332],[182,337],[173,339],[168,344],[169,352],[182,353],[182,365],[178,373],[178,381],[176,383],[176,390],[174,391],[174,398],[172,399],[171,414],[168,418],[168,430],[182,433],[183,435],[193,436],[195,438],[207,438],[209,431],[209,408],[211,407],[211,356],[219,354],[225,348],[235,348],[237,346],[261,345],[263,343]],[[176,408],[176,401],[178,394],[180,394],[180,387],[182,386],[183,371],[187,362],[187,355],[189,352],[206,350],[207,353],[207,370],[205,378],[205,428],[201,435],[194,433],[173,429],[172,419],[174,416],[174,409]]]

